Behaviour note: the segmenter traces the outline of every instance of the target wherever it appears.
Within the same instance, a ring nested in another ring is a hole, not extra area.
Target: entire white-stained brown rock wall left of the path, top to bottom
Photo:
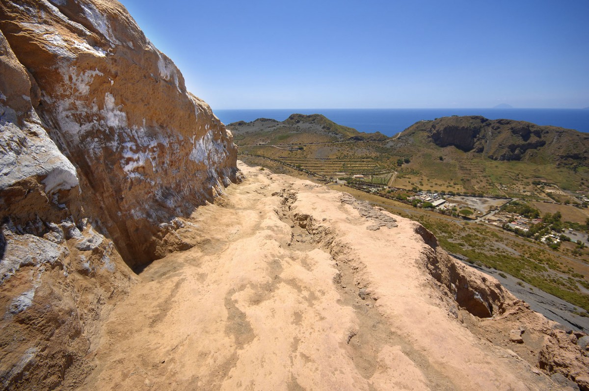
[[[0,1],[0,382],[87,370],[177,217],[239,180],[232,136],[117,1]],[[75,376],[70,376],[75,378]]]

